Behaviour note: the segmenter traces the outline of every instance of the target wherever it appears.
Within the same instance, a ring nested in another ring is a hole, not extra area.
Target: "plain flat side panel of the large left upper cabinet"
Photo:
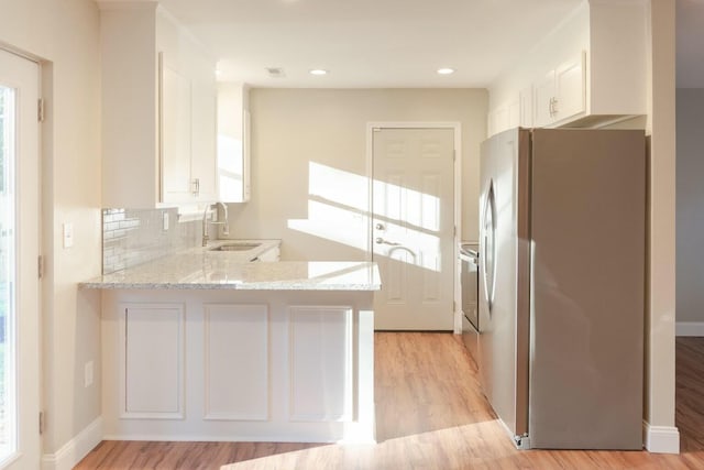
[[[100,6],[102,207],[160,203],[156,6]]]

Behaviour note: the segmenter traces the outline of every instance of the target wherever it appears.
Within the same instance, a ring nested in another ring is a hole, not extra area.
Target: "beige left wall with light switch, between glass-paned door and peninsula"
[[[43,139],[44,453],[100,416],[100,315],[96,293],[76,283],[100,273],[99,19],[92,0],[0,2],[0,43],[41,58],[48,119]],[[62,222],[74,223],[64,250]],[[84,364],[96,365],[84,387]]]

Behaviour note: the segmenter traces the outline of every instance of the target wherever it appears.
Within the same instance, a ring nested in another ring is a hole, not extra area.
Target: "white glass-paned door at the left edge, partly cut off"
[[[0,50],[0,468],[40,467],[38,65]]]

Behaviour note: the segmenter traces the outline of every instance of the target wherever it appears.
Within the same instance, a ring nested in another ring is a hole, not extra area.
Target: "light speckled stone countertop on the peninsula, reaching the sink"
[[[246,251],[211,251],[220,244],[258,242]],[[364,261],[251,262],[279,240],[218,240],[78,284],[109,289],[378,291],[376,263]]]

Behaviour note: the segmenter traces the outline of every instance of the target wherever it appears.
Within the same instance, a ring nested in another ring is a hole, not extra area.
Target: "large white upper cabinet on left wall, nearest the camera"
[[[99,6],[103,207],[216,200],[216,61],[156,2]]]

